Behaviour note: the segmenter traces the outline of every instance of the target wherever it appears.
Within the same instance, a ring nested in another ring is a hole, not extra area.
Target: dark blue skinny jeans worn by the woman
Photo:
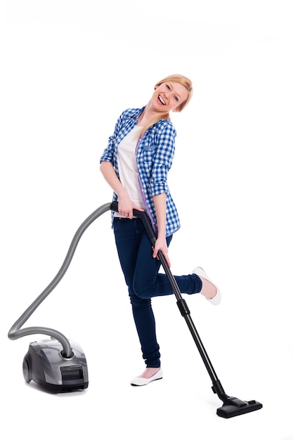
[[[161,263],[152,257],[152,246],[143,221],[115,217],[113,230],[143,358],[147,367],[158,368],[160,354],[151,298],[173,295],[173,290],[167,275],[158,273]],[[167,238],[168,246],[171,238]],[[182,293],[193,294],[202,288],[202,281],[194,273],[174,278]]]

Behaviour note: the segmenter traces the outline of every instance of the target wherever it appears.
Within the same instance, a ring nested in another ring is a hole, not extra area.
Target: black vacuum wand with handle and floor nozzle
[[[112,202],[111,210],[114,212],[118,212],[118,202]],[[138,211],[137,209],[134,209],[134,216],[142,219],[143,225],[145,226],[145,229],[148,233],[148,237],[150,238],[151,245],[152,246],[155,245],[157,236],[152,228],[152,224],[150,218],[148,217],[148,214],[146,214],[146,212],[144,211],[141,212]],[[202,361],[204,362],[204,365],[207,368],[207,372],[211,377],[211,382],[212,382],[211,389],[214,392],[214,394],[217,394],[219,396],[219,399],[223,401],[223,406],[218,408],[216,411],[217,415],[223,418],[232,418],[235,417],[235,415],[251,413],[252,411],[261,409],[262,404],[255,400],[242,401],[240,399],[237,399],[236,397],[228,396],[228,394],[224,392],[222,384],[216,375],[214,367],[211,364],[211,361],[209,360],[209,356],[207,355],[207,351],[204,349],[204,345],[202,344],[200,335],[198,334],[195,325],[193,323],[193,320],[190,316],[190,310],[188,309],[188,305],[186,304],[185,299],[183,299],[181,295],[181,291],[178,287],[178,284],[176,283],[174,276],[171,273],[171,270],[167,264],[164,254],[162,253],[162,251],[159,251],[157,255],[162,263],[162,266],[167,275],[169,283],[171,284],[172,291],[174,292],[174,295],[177,299],[177,306],[181,312],[181,316],[183,316],[185,322],[188,325],[188,328],[191,332],[191,335],[193,336],[197,349],[200,352],[200,356],[202,357]]]

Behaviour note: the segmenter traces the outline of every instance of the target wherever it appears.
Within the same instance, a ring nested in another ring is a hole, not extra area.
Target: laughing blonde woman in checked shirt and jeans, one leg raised
[[[100,158],[100,171],[114,191],[113,200],[118,201],[112,228],[146,365],[143,373],[131,380],[132,385],[162,379],[151,298],[173,294],[167,275],[158,273],[157,253],[160,250],[170,266],[168,246],[180,227],[167,184],[176,138],[169,112],[181,112],[192,94],[192,83],[183,75],[157,82],[145,107],[122,112]],[[157,235],[154,247],[133,209],[145,210],[150,216]],[[202,268],[175,279],[181,292],[200,292],[212,304],[219,304],[219,289]]]

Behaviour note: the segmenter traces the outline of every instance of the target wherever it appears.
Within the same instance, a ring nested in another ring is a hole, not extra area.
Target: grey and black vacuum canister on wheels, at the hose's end
[[[70,342],[72,356],[66,358],[56,339],[31,342],[22,363],[27,383],[33,380],[48,392],[72,392],[89,386],[86,357],[76,342]]]

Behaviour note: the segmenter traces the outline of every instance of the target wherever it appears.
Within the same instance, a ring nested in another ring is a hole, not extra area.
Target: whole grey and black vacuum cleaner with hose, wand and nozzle
[[[50,292],[58,285],[60,280],[65,275],[68,266],[72,260],[74,252],[77,248],[78,242],[82,237],[86,228],[88,228],[98,216],[107,211],[118,212],[118,203],[110,202],[100,206],[94,211],[84,222],[79,226],[77,232],[74,234],[70,248],[67,252],[63,265],[58,271],[57,275],[46,289],[41,292],[41,295],[35,299],[35,301],[22,313],[22,316],[18,318],[11,330],[8,332],[9,339],[19,339],[27,335],[43,334],[48,335],[51,339],[43,339],[41,341],[32,342],[29,350],[25,355],[22,363],[22,373],[25,377],[25,381],[30,383],[32,380],[47,392],[73,392],[79,389],[86,389],[89,386],[89,375],[86,364],[86,357],[79,345],[67,339],[62,333],[52,328],[44,327],[30,327],[21,329],[32,313],[37,309],[39,304],[50,294]],[[152,228],[152,224],[148,214],[134,209],[134,216],[140,217],[143,221],[145,229],[150,238],[151,245],[155,245],[156,235]],[[172,275],[170,268],[167,264],[164,254],[161,251],[158,252],[159,260],[164,268],[169,283],[171,284],[172,291],[177,300],[177,306],[181,312],[181,316],[185,319],[186,324],[193,336],[194,342],[197,346],[202,361],[204,362],[209,377],[212,382],[212,391],[217,394],[219,399],[223,402],[223,405],[216,410],[216,414],[221,418],[233,418],[237,415],[251,413],[252,411],[263,408],[263,405],[259,401],[249,400],[243,401],[237,399],[237,397],[229,396],[223,389],[223,386],[216,375],[213,365],[209,360],[207,351],[204,349],[200,335],[195,328],[195,324],[190,316],[190,310],[181,295],[181,291],[176,283],[174,276]]]

